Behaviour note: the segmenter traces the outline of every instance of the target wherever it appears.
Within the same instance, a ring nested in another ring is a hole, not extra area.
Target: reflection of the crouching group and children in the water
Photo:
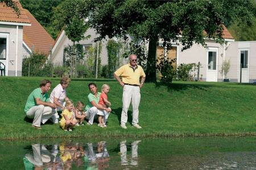
[[[37,143],[26,149],[30,153],[23,158],[25,169],[71,169],[73,164],[82,169],[109,167],[109,153],[104,141],[85,146],[79,143],[60,143],[59,146]]]

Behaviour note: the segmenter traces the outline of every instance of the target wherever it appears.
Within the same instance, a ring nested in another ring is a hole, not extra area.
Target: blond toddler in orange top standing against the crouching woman
[[[109,108],[111,106],[110,101],[108,100],[108,93],[109,93],[109,85],[103,84],[101,88],[101,95],[100,95],[100,101],[98,101],[98,105],[102,107]],[[109,108],[110,109],[110,108]],[[110,109],[111,111],[111,109]],[[98,109],[98,126],[101,128],[106,128],[106,115],[109,114],[108,112]]]

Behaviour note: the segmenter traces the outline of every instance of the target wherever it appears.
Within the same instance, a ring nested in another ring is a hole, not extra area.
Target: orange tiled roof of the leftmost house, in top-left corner
[[[22,8],[19,1],[15,1],[20,9],[20,16],[15,13],[13,8],[7,7],[3,2],[0,2],[0,22],[28,23],[30,20],[26,15],[26,11]]]

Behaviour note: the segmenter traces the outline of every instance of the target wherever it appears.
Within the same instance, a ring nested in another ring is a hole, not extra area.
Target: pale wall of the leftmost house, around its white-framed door
[[[23,27],[18,27],[18,42],[16,42],[16,25],[0,24],[1,33],[9,33],[9,56],[8,56],[8,76],[15,76],[15,63],[17,63],[17,75],[22,75],[22,40]],[[18,59],[16,60],[16,43],[18,43]]]

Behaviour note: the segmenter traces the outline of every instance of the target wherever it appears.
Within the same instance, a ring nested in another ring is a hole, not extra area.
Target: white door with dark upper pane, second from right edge
[[[218,50],[217,48],[209,48],[207,52],[207,82],[217,82],[218,76]]]

